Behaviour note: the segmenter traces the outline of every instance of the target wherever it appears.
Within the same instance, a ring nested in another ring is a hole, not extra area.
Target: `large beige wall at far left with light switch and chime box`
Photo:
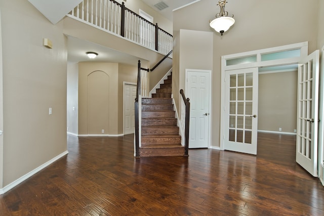
[[[54,26],[28,1],[0,1],[0,8],[7,186],[66,151],[67,39],[62,22]]]

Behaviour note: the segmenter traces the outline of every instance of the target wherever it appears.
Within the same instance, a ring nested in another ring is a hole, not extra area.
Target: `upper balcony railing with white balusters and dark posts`
[[[172,35],[114,0],[84,0],[67,16],[117,34],[143,47],[168,54]]]

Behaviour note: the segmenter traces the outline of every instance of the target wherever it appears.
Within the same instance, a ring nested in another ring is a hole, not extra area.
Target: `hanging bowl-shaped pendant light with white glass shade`
[[[214,28],[215,31],[221,33],[221,35],[223,35],[223,33],[227,31],[235,22],[235,20],[233,19],[234,15],[232,15],[232,17],[228,17],[228,12],[225,12],[226,3],[227,2],[225,0],[220,0],[218,2],[217,5],[221,10],[218,14],[216,14],[216,19],[209,21],[209,25]]]

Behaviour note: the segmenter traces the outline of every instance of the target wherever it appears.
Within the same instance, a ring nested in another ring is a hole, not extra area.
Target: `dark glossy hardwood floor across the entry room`
[[[259,134],[258,155],[213,149],[134,158],[133,135],[68,136],[69,154],[0,196],[0,215],[324,215],[324,188],[295,136]]]

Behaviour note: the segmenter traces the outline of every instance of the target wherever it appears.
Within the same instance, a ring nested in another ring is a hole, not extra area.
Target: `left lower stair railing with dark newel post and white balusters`
[[[137,87],[136,87],[136,98],[135,98],[135,157],[140,156],[140,143],[141,143],[141,107],[142,107],[142,95],[146,94],[146,89],[143,89],[143,83],[141,81],[142,70],[149,71],[149,69],[141,67],[141,61],[138,60],[137,65]],[[144,74],[145,77],[146,74]],[[147,76],[146,76],[147,77]],[[146,80],[147,81],[147,80]],[[142,84],[141,84],[142,83]]]

